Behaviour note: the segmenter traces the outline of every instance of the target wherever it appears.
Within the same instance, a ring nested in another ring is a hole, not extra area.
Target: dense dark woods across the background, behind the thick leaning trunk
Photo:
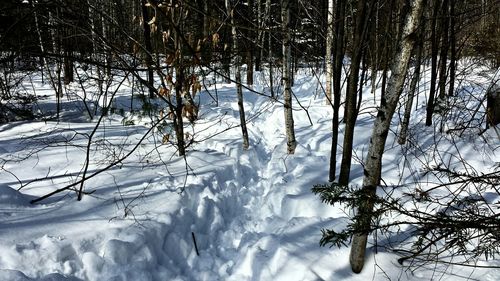
[[[121,70],[147,89],[150,98],[163,99],[176,112],[177,135],[181,136],[181,104],[188,104],[191,121],[197,115],[196,93],[185,93],[203,84],[208,74],[236,82],[240,93],[241,87],[251,87],[253,71],[265,66],[271,74],[283,74],[282,80],[270,79],[270,98],[277,98],[275,88],[282,86],[284,107],[291,108],[289,88],[294,72],[308,66],[328,74],[324,90],[327,103],[334,108],[332,155],[339,143],[339,121],[345,123],[341,143],[346,149],[339,159],[339,182],[347,184],[352,159],[349,148],[361,100],[366,98],[361,83],[373,81],[372,92],[380,84],[384,95],[410,6],[408,1],[313,2],[4,1],[0,8],[1,118],[5,122],[32,114],[19,108],[19,102],[11,102],[26,99],[11,89],[15,81],[10,81],[9,73],[13,71],[42,71],[57,97],[62,97],[64,85],[78,81],[77,67],[95,68],[97,73],[90,78],[102,91],[106,81],[113,79],[113,70]],[[412,34],[419,46],[412,63],[431,67],[427,126],[432,125],[435,110],[454,94],[458,60],[474,57],[491,67],[500,64],[499,9],[497,1],[425,3],[419,31]],[[348,69],[345,80],[343,68]],[[247,73],[244,83],[243,70]],[[414,75],[418,77],[419,72]],[[166,92],[175,92],[173,98]],[[241,93],[238,100],[242,104]],[[411,102],[408,99],[409,109]],[[341,104],[345,105],[343,120],[339,120]],[[293,114],[286,112],[293,153]],[[242,106],[240,115],[243,138],[247,139]],[[182,155],[185,143],[182,139],[177,142]],[[336,174],[334,158],[331,180]]]

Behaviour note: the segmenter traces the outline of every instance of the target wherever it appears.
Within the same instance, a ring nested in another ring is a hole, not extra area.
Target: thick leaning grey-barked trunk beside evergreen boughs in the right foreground
[[[403,36],[391,67],[391,77],[387,86],[387,93],[381,102],[375,119],[374,128],[366,156],[363,178],[364,201],[358,206],[359,232],[353,235],[350,263],[352,271],[361,272],[364,266],[366,243],[370,224],[372,220],[372,211],[374,207],[374,197],[377,184],[382,170],[382,155],[384,153],[385,142],[389,134],[389,127],[392,116],[396,110],[399,97],[401,95],[408,62],[415,43],[415,32],[422,18],[425,0],[415,0],[412,2],[411,11],[408,14],[403,28]]]

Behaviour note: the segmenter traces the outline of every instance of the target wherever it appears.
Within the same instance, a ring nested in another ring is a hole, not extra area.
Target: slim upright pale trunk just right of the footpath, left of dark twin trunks
[[[293,124],[293,111],[292,111],[292,87],[290,77],[291,67],[291,35],[290,35],[290,0],[281,1],[281,20],[283,31],[283,86],[285,87],[283,93],[284,107],[285,107],[285,128],[287,138],[287,152],[294,154],[297,142],[295,140],[295,128]]]

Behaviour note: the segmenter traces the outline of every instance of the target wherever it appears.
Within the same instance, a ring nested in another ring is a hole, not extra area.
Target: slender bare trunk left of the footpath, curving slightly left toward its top
[[[241,54],[239,53],[238,48],[238,33],[236,30],[236,25],[234,21],[234,10],[236,7],[231,7],[230,1],[226,0],[226,9],[227,13],[231,17],[231,33],[233,36],[233,53],[234,53],[234,72],[235,72],[235,80],[236,80],[236,89],[238,95],[238,110],[240,113],[240,126],[241,132],[243,135],[243,149],[248,149],[250,146],[248,141],[248,131],[247,131],[247,123],[245,119],[245,107],[243,105],[243,87],[241,85]]]

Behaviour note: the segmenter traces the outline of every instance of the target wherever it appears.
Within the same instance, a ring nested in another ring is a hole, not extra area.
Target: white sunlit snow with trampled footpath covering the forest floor
[[[348,248],[320,247],[321,229],[341,230],[349,211],[323,204],[311,193],[314,184],[327,180],[332,111],[310,70],[301,70],[295,79],[293,90],[313,122],[294,101],[296,154],[286,154],[282,104],[249,91],[245,108],[251,146],[243,151],[235,85],[219,84],[218,106],[206,92],[200,95],[201,119],[186,127],[195,142],[185,159],[176,156],[172,145],[158,145],[161,138],[150,134],[131,157],[89,179],[84,190],[90,194],[82,201],[66,190],[30,204],[80,179],[87,136],[96,119],[82,117],[75,109],[63,114],[61,122],[0,125],[0,280],[500,278],[500,269],[401,266],[398,255],[375,246],[373,235],[365,269],[353,274]],[[47,87],[39,77],[33,80],[40,89]],[[260,83],[256,90],[268,91],[260,73],[255,81]],[[355,131],[351,178],[358,186],[375,110],[370,88],[366,86]],[[75,96],[65,98],[63,108],[83,108],[78,89],[73,87]],[[215,90],[213,85],[210,89]],[[127,85],[118,89],[119,104],[129,105],[129,96]],[[424,105],[422,91],[413,122],[422,122]],[[38,106],[50,111],[54,100],[41,99]],[[131,151],[147,132],[148,117],[130,118],[134,125],[124,126],[117,114],[105,118],[94,136],[87,176]],[[482,138],[441,136],[444,153],[436,158],[433,128],[415,124],[410,135],[419,146],[401,147],[395,141],[397,121],[398,117],[384,155],[388,185],[436,180],[422,176],[419,169],[424,164],[453,164],[464,158],[486,172],[500,162],[498,149],[488,144],[498,144],[491,129]],[[418,163],[417,156],[428,163]],[[498,194],[490,195],[490,200],[497,200]],[[481,264],[496,265],[498,260]]]

